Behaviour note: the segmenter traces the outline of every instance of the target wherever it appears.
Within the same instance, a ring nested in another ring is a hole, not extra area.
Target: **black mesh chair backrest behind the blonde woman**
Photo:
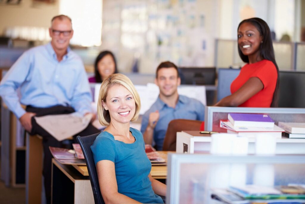
[[[95,204],[104,204],[104,200],[101,194],[101,190],[99,188],[99,180],[97,177],[96,167],[93,160],[93,154],[91,151],[91,145],[94,143],[95,138],[99,135],[99,133],[96,133],[94,135],[89,135],[85,137],[77,136],[76,139],[78,143],[81,146],[81,149],[83,150],[83,154],[86,160],[90,183],[92,187],[93,197]]]

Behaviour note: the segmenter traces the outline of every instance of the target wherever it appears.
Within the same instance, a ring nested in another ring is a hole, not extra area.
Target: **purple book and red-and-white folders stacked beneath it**
[[[229,113],[228,120],[220,121],[220,127],[227,129],[228,133],[246,137],[265,133],[282,138],[282,132],[284,132],[267,114]]]

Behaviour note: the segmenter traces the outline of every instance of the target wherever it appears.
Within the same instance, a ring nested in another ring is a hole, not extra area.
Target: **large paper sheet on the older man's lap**
[[[35,117],[37,124],[44,128],[58,141],[67,139],[83,131],[92,118],[91,114],[82,117],[79,113],[47,115]]]

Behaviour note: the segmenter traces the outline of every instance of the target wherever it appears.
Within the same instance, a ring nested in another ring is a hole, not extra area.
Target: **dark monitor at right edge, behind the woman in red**
[[[305,72],[280,71],[279,107],[305,108]]]

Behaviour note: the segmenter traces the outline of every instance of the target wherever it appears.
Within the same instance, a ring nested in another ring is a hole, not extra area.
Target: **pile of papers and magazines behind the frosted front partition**
[[[213,189],[211,197],[230,204],[305,203],[305,188],[299,186],[266,187],[257,185]]]

